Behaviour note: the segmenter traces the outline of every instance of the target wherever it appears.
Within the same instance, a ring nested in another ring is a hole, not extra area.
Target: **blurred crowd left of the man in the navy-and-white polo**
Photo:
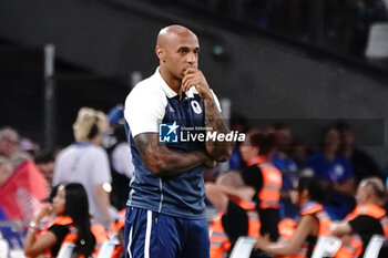
[[[109,114],[82,107],[73,135],[69,146],[47,151],[14,128],[0,128],[2,251],[3,239],[28,257],[57,257],[62,242],[74,241],[76,254],[91,257],[106,241],[116,246],[112,257],[123,257],[133,174],[123,107]]]

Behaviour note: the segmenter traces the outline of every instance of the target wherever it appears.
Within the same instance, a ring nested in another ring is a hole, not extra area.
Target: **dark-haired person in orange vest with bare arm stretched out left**
[[[288,239],[272,242],[269,237],[258,237],[255,248],[275,257],[308,258],[319,236],[330,235],[331,220],[321,205],[327,190],[323,180],[302,176],[290,193],[294,204],[300,207],[300,218]]]

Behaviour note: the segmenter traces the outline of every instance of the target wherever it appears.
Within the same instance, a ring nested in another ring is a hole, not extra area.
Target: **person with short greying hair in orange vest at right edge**
[[[365,247],[375,234],[388,238],[382,180],[378,177],[363,179],[357,188],[356,202],[356,208],[345,220],[331,226],[333,235],[341,237],[344,242],[336,255],[338,258],[363,257]]]

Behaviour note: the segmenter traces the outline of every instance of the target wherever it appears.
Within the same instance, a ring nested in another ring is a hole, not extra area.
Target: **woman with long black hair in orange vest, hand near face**
[[[53,223],[38,234],[42,219],[55,215]],[[59,185],[52,204],[43,206],[30,223],[24,240],[24,254],[38,257],[47,254],[57,257],[64,241],[75,244],[78,257],[90,257],[94,251],[95,237],[91,230],[88,196],[79,183]]]

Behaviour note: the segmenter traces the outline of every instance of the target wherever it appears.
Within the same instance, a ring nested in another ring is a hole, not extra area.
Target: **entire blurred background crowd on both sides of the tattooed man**
[[[50,151],[14,128],[0,130],[0,221],[31,221],[19,233],[0,224],[11,248],[31,257],[45,248],[55,256],[72,227],[82,236],[73,236],[79,254],[96,255],[112,236],[122,240],[134,171],[124,124],[121,105],[108,114],[82,107],[72,127],[74,143]],[[358,257],[372,235],[387,237],[382,223],[374,225],[386,214],[386,175],[357,147],[349,124],[324,128],[319,146],[295,140],[284,123],[263,130],[235,118],[231,130],[246,133],[245,142],[227,163],[205,171],[212,258],[226,257],[241,236],[257,238],[252,257],[312,251],[319,236],[356,233],[359,245],[350,237],[340,251],[351,249]],[[279,246],[270,249],[270,242]],[[123,256],[116,246],[113,257]]]

